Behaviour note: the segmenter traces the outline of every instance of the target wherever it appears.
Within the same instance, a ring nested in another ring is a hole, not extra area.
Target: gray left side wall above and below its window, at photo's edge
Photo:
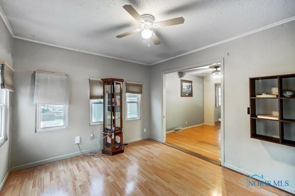
[[[13,38],[7,30],[2,18],[0,17],[0,60],[7,62],[12,66],[12,57],[10,51],[13,45]],[[13,93],[9,93],[10,98]],[[11,111],[11,110],[10,110]],[[10,117],[9,117],[10,118]],[[8,140],[0,146],[0,184],[4,179],[9,168],[9,148],[10,148],[10,126],[8,125],[7,138]]]

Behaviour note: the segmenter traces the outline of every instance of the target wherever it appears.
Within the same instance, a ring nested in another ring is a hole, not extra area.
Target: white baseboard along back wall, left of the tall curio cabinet
[[[91,149],[88,149],[88,150],[83,150],[82,152],[83,153],[89,153],[89,152],[98,151],[98,150],[102,150],[102,146],[99,147],[99,148],[91,148]],[[21,169],[27,169],[29,167],[34,167],[34,166],[38,166],[38,165],[41,165],[41,164],[51,163],[51,162],[59,161],[59,160],[62,160],[62,159],[75,157],[75,156],[78,156],[78,155],[82,155],[82,153],[80,151],[78,151],[78,152],[74,152],[74,153],[70,153],[70,154],[66,154],[66,155],[61,155],[61,156],[58,156],[58,157],[44,159],[44,160],[40,160],[40,161],[36,161],[36,162],[32,162],[32,163],[26,163],[26,164],[11,167],[10,171],[17,171],[17,170],[21,170]]]

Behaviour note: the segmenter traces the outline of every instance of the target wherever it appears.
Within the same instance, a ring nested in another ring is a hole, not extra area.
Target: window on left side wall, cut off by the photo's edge
[[[0,90],[0,145],[5,141],[5,100],[6,100],[6,91]]]

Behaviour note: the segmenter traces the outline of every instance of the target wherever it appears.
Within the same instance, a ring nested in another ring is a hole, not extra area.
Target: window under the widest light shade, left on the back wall
[[[67,127],[67,105],[37,104],[37,129],[46,131]]]

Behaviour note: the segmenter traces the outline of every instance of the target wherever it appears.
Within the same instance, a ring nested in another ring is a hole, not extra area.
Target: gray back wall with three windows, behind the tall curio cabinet
[[[100,148],[102,142],[89,140],[101,135],[102,126],[89,126],[89,78],[123,78],[143,83],[141,120],[125,121],[124,141],[149,136],[149,67],[56,47],[14,40],[15,99],[11,166],[37,162],[78,152],[75,136],[81,136],[82,150]],[[36,70],[70,74],[68,129],[35,133],[33,72]],[[124,94],[125,95],[125,94]],[[123,97],[125,102],[125,96]],[[144,128],[147,131],[144,132]],[[17,167],[22,168],[22,167]]]

